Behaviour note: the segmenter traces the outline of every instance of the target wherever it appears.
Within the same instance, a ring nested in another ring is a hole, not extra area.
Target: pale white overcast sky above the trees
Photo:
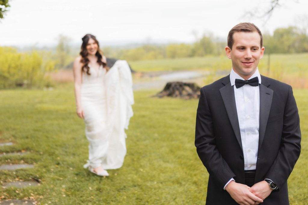
[[[102,46],[144,42],[193,42],[212,32],[226,39],[239,22],[253,22],[262,32],[296,26],[307,14],[308,1],[281,0],[270,20],[243,17],[261,15],[270,0],[10,0],[0,22],[0,46],[53,45],[59,34],[81,44],[94,34]],[[259,8],[258,11],[256,8]],[[194,32],[193,32],[194,31]]]

